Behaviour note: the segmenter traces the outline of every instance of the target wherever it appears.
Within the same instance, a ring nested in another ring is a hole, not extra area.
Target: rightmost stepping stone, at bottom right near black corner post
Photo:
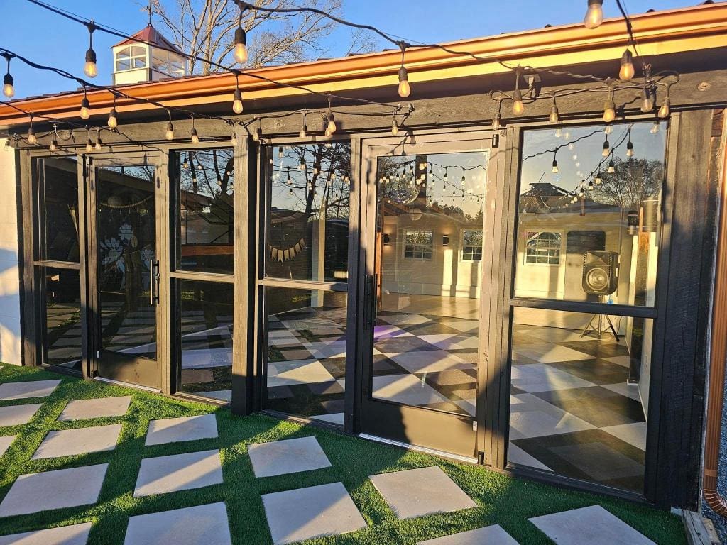
[[[529,520],[557,545],[656,545],[600,505]]]

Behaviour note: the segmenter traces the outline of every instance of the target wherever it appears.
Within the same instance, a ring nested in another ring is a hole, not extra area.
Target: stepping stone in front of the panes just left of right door
[[[249,445],[255,477],[271,477],[331,467],[316,437],[300,437]]]

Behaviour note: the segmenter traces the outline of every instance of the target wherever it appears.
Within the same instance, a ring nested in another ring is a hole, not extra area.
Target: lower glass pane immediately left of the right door
[[[343,424],[346,297],[340,291],[265,288],[267,408]]]

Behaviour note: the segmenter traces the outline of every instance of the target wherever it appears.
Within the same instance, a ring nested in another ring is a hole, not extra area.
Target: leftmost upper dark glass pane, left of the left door
[[[57,157],[39,161],[42,211],[40,258],[79,261],[79,161]]]

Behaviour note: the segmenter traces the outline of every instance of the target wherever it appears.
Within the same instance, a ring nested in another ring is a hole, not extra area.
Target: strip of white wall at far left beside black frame
[[[0,361],[20,365],[20,275],[15,152],[0,139]]]

